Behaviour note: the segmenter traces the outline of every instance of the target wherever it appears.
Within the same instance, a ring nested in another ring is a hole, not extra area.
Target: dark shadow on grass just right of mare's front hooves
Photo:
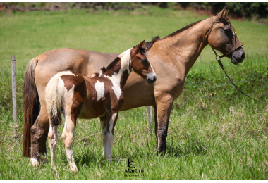
[[[202,142],[193,139],[189,139],[181,146],[175,146],[174,144],[166,146],[166,155],[168,156],[188,156],[191,153],[195,155],[205,154],[207,153],[207,147]]]

